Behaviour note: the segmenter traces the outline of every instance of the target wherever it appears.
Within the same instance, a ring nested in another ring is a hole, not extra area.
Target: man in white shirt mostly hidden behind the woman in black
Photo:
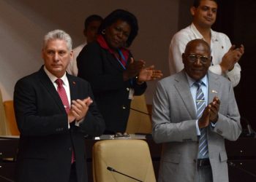
[[[99,15],[90,15],[89,17],[86,17],[83,30],[83,35],[86,37],[86,40],[83,44],[80,44],[73,50],[73,60],[70,61],[69,66],[67,66],[67,72],[69,74],[78,76],[77,57],[83,47],[86,46],[86,44],[97,39],[97,32],[99,25],[102,23],[102,20],[102,17]]]

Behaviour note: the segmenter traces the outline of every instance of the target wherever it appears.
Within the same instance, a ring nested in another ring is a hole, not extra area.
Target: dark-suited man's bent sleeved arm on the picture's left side
[[[29,79],[21,79],[15,85],[14,108],[15,118],[21,135],[56,135],[68,132],[67,114],[57,110],[50,114],[56,106],[54,100],[44,100],[46,95],[38,92],[40,87],[35,86]],[[38,100],[42,97],[42,100]],[[42,105],[43,104],[43,105]],[[48,111],[46,111],[48,109]],[[40,110],[40,111],[39,111]],[[58,113],[59,111],[59,113]],[[45,114],[42,114],[45,112]],[[41,115],[42,114],[42,115]]]

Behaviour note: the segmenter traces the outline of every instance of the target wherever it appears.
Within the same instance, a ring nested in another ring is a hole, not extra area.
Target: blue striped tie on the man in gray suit
[[[197,97],[196,97],[196,104],[197,104],[197,119],[202,116],[204,109],[206,108],[206,99],[203,95],[203,91],[201,89],[202,82],[195,82],[197,86]],[[199,147],[198,147],[198,158],[204,159],[208,158],[208,144],[207,144],[207,128],[200,129],[201,135],[199,138]]]

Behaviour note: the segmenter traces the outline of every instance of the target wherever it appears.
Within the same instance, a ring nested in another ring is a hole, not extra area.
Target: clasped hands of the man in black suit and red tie
[[[72,100],[71,108],[68,113],[69,123],[83,119],[92,102],[91,98]]]

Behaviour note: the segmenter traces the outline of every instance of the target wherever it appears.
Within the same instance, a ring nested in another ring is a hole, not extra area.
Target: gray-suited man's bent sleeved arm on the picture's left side
[[[154,93],[153,109],[152,109],[152,135],[156,143],[165,142],[183,142],[197,141],[196,119],[184,121],[172,121],[171,116],[175,118],[175,114],[180,116],[180,113],[171,113],[174,108],[170,106],[173,103],[174,107],[178,107],[176,98],[170,98],[167,92],[172,92],[169,85],[157,83],[157,90]],[[175,90],[173,90],[175,92]],[[182,112],[186,108],[180,108]],[[174,115],[173,115],[174,114]],[[177,118],[178,119],[178,118]]]

